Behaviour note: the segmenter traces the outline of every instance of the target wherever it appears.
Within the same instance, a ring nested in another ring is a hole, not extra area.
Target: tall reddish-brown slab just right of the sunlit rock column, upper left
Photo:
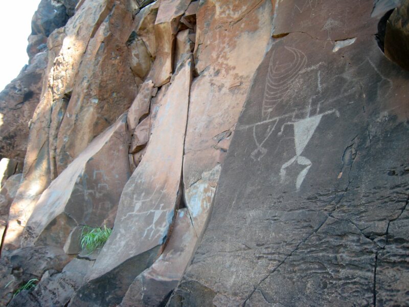
[[[89,40],[58,129],[58,174],[95,136],[126,112],[138,92],[125,46],[131,24],[132,14],[116,3]]]

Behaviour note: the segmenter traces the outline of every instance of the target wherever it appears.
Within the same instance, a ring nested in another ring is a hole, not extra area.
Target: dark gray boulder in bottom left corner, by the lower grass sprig
[[[41,279],[49,270],[61,271],[70,260],[62,249],[52,246],[27,247],[2,255],[0,304],[6,306],[15,290],[30,279]]]

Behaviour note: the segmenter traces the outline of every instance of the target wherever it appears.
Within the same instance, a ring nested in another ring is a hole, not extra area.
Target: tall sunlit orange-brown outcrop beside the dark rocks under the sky
[[[112,58],[114,63],[126,64],[128,53],[116,55],[113,47],[122,41],[125,48],[129,33],[121,22],[131,20],[126,6],[99,0],[79,3],[77,9],[48,40],[47,75],[30,128],[24,180],[11,205],[5,238],[8,249],[20,246],[23,227],[51,180],[127,110],[137,92],[129,67],[110,67],[108,61]],[[110,42],[107,48],[104,39]],[[113,69],[111,75],[104,74],[106,69]]]

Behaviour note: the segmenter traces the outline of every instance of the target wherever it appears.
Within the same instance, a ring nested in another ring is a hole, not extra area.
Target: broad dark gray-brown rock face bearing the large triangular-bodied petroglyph
[[[409,300],[409,74],[377,47],[371,3],[347,23],[349,1],[304,2],[276,7],[282,38],[256,72],[208,229],[169,306]],[[320,18],[291,33],[289,15],[295,29]]]

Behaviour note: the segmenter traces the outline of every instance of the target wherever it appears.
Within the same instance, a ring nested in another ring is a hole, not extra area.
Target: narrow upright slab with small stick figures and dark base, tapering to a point
[[[122,192],[112,234],[72,306],[119,304],[133,279],[161,253],[179,200],[191,78],[189,59],[161,99],[145,156]]]

